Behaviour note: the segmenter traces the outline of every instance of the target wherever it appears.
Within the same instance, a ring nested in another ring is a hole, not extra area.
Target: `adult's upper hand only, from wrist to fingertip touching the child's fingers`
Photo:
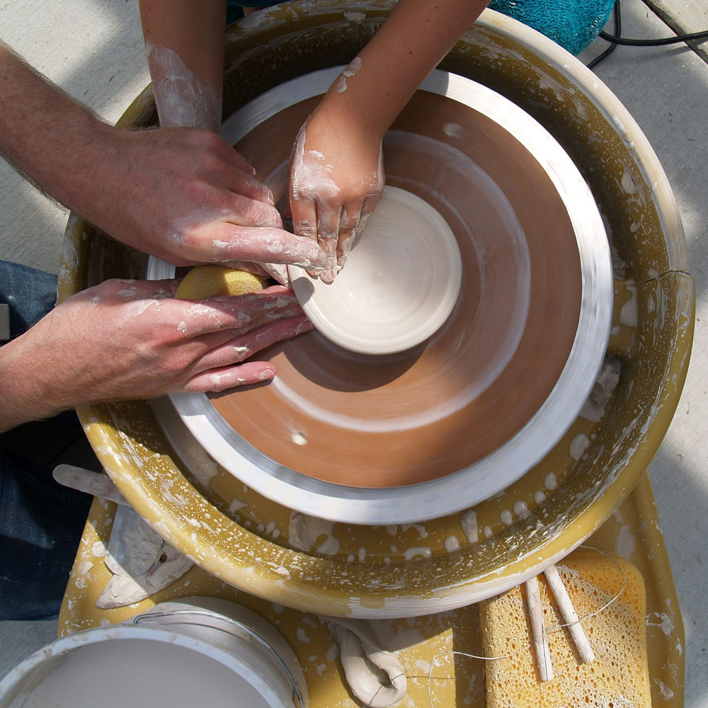
[[[173,265],[295,263],[323,251],[282,228],[273,195],[221,137],[196,128],[117,131],[98,198],[81,213],[119,241]]]

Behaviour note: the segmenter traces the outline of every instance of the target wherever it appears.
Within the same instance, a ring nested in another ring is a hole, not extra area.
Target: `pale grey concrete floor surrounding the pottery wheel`
[[[649,0],[648,0],[649,1]],[[651,0],[675,28],[708,30],[708,0]],[[623,0],[623,35],[667,25]],[[128,0],[4,0],[0,37],[68,93],[114,121],[147,84],[137,4]],[[581,57],[606,46],[598,40]],[[708,45],[704,45],[708,47]],[[687,384],[650,467],[685,623],[687,708],[708,707],[708,65],[685,45],[619,47],[596,67],[641,126],[673,186],[696,279]],[[56,270],[66,213],[0,164],[0,258]],[[0,600],[1,601],[1,600]],[[54,622],[0,623],[0,676],[55,638]]]

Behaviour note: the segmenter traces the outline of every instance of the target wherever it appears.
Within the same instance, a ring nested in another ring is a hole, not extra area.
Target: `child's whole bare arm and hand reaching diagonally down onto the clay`
[[[488,0],[399,0],[300,130],[290,169],[295,233],[329,253],[331,281],[384,185],[381,141]]]

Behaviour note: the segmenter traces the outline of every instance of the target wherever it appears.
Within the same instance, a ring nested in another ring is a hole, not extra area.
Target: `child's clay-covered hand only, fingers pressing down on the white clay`
[[[307,119],[290,158],[293,231],[329,256],[319,277],[332,282],[384,188],[381,141],[353,120],[327,110]]]

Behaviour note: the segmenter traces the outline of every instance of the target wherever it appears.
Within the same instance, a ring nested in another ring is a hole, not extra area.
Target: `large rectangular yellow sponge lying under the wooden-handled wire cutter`
[[[595,659],[581,663],[552,592],[539,577],[554,678],[541,681],[523,586],[480,605],[487,708],[651,708],[646,595],[619,556],[579,550],[556,566]],[[620,570],[621,569],[621,570]],[[600,610],[622,589],[622,595]],[[597,614],[594,614],[597,612]],[[594,615],[594,616],[590,616]],[[507,658],[495,658],[507,657]]]

